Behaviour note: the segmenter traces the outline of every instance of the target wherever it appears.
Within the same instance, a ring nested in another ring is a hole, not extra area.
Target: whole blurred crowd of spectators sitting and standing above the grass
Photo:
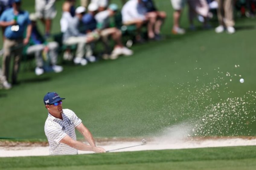
[[[111,3],[111,0],[80,0],[79,6],[76,6],[78,3],[75,0],[63,0],[59,21],[60,41],[53,39],[51,32],[57,14],[57,0],[35,0],[34,13],[26,11],[23,1],[0,0],[3,37],[0,88],[10,89],[17,84],[23,55],[34,56],[35,74],[39,76],[48,71],[62,72],[63,66],[57,65],[59,49],[62,49],[63,60],[85,66],[99,59],[95,57],[96,42],[103,45],[100,59],[115,60],[121,55],[133,55],[129,49],[133,43],[159,41],[163,38],[161,27],[167,15],[156,7],[154,0],[122,0],[121,7]],[[256,0],[168,1],[170,8],[174,9],[172,34],[182,35],[186,32],[180,25],[185,5],[188,5],[190,30],[196,29],[195,19],[202,22],[203,29],[211,29],[209,20],[216,14],[219,26],[215,32],[235,33],[234,7],[242,15],[255,16]],[[40,32],[37,22],[43,23],[44,32]],[[124,42],[123,36],[129,32],[131,38]]]

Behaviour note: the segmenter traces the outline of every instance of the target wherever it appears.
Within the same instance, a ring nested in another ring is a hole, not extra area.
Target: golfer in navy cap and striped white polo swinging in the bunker
[[[72,110],[62,109],[62,100],[56,92],[48,92],[43,103],[48,110],[44,131],[49,142],[50,155],[78,154],[78,150],[106,152],[96,147],[91,132],[86,128]],[[75,128],[84,136],[90,145],[76,141]]]

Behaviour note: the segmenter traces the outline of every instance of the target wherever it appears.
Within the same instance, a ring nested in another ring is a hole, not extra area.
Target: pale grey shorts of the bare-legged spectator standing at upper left
[[[44,0],[36,0],[36,15],[38,18],[53,19],[56,17],[57,11],[55,5],[46,4]]]

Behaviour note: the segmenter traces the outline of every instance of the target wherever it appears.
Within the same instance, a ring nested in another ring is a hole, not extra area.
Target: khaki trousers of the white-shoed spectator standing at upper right
[[[223,26],[234,26],[233,0],[217,0],[217,2],[219,24]]]

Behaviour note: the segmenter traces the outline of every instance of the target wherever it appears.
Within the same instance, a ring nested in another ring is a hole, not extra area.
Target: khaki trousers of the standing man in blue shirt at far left
[[[4,55],[3,55],[3,63],[2,63],[2,75],[6,77],[7,81],[9,80],[11,54],[14,54],[11,80],[12,80],[12,83],[16,83],[19,67],[21,63],[23,39],[14,39],[14,40],[5,39],[3,48],[4,48]]]

